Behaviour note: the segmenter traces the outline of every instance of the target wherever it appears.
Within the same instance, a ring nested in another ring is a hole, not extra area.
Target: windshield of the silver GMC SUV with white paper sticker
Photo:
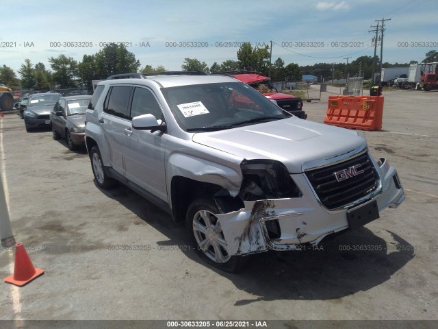
[[[187,131],[222,130],[291,116],[240,82],[178,86],[162,91],[175,119]]]

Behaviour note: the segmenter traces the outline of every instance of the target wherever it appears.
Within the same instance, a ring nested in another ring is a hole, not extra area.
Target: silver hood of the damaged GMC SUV
[[[282,162],[289,173],[343,160],[367,147],[355,130],[292,117],[219,132],[196,133],[195,143],[246,160]]]

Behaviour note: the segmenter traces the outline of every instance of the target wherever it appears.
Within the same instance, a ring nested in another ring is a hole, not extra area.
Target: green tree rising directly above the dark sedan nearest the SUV
[[[73,57],[65,55],[57,56],[57,58],[49,58],[50,66],[53,70],[53,83],[60,88],[71,88],[77,86],[78,69],[77,62]]]

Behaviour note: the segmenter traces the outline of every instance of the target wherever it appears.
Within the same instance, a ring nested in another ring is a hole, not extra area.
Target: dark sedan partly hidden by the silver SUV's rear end
[[[61,97],[50,113],[53,139],[66,138],[69,149],[85,146],[85,119],[91,96]]]

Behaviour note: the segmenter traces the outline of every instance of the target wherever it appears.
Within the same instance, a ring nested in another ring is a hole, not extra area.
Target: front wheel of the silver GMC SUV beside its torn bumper
[[[227,272],[244,267],[248,257],[229,256],[227,241],[215,214],[218,206],[209,199],[196,199],[187,210],[187,225],[196,243],[196,252],[205,262]]]

